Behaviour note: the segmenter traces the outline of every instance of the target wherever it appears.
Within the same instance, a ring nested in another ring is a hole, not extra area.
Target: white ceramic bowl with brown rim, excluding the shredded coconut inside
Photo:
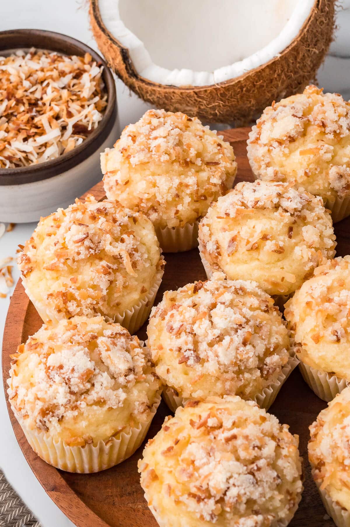
[[[77,196],[101,180],[100,152],[119,138],[114,78],[106,62],[82,42],[60,33],[41,30],[0,32],[0,55],[36,47],[66,55],[90,53],[104,66],[102,78],[107,106],[97,128],[78,147],[60,157],[29,167],[0,169],[0,221],[38,221],[58,207],[66,208]]]

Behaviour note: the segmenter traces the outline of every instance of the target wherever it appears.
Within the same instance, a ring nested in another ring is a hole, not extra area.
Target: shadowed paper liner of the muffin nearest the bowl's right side
[[[184,227],[156,227],[159,246],[163,252],[184,252],[198,246],[199,221],[186,223]]]

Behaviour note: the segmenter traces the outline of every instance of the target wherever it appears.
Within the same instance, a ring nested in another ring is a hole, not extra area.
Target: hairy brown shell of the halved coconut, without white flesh
[[[315,0],[310,17],[285,50],[244,75],[211,86],[166,86],[136,72],[129,50],[102,23],[98,0],[90,0],[92,32],[101,53],[120,79],[156,108],[197,115],[207,122],[244,124],[272,101],[300,92],[315,79],[332,42],[336,0]]]

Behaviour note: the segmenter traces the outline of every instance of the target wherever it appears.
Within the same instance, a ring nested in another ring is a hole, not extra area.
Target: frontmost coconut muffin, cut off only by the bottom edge
[[[178,408],[139,472],[160,527],[287,525],[302,492],[298,437],[237,396]]]

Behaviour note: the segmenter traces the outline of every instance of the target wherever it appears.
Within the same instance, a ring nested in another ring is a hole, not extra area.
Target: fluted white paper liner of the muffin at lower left
[[[110,469],[126,460],[139,448],[156,414],[160,395],[161,391],[156,395],[147,422],[139,423],[137,427],[131,428],[129,433],[120,432],[117,437],[111,437],[106,442],[100,440],[97,445],[69,446],[63,440],[55,441],[47,432],[29,430],[15,409],[12,409],[29,445],[42,460],[56,469],[87,474]]]

